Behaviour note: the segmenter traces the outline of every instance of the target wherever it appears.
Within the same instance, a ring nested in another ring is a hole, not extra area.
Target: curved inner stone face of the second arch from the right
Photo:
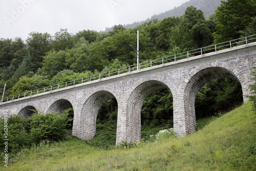
[[[159,89],[169,89],[163,82],[151,80],[141,83],[131,93],[126,105],[126,137],[127,142],[136,142],[141,138],[141,108],[148,95]],[[117,144],[120,143],[117,140]]]

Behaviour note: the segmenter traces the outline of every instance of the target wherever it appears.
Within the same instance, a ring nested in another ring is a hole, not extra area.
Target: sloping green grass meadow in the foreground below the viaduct
[[[256,115],[246,103],[183,138],[104,150],[68,137],[23,149],[0,170],[256,170],[255,128]]]

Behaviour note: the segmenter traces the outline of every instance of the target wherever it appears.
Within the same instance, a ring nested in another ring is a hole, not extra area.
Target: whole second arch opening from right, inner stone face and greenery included
[[[172,106],[168,106],[168,111],[164,111],[166,106],[161,105]],[[173,127],[172,93],[168,86],[160,81],[144,82],[132,92],[126,112],[129,116],[128,124],[130,125],[128,131],[132,132],[132,134],[126,137],[126,141],[139,141],[141,139],[141,132],[142,137],[146,138],[147,135],[143,130],[144,128],[156,128],[159,126],[160,130],[160,125],[162,124]],[[155,129],[155,131],[157,132],[158,130]]]

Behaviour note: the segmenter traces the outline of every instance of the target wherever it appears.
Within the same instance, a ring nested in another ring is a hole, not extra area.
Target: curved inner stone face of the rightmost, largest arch
[[[204,68],[193,75],[187,82],[184,90],[184,110],[187,133],[196,130],[195,99],[197,92],[205,83],[217,78],[229,78],[236,80],[241,84],[240,80],[233,72],[223,67]]]

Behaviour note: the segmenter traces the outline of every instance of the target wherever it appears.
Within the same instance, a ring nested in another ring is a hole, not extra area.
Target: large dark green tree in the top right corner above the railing
[[[240,37],[256,15],[255,0],[227,0],[216,10],[217,31],[214,34],[215,43],[221,43]]]

